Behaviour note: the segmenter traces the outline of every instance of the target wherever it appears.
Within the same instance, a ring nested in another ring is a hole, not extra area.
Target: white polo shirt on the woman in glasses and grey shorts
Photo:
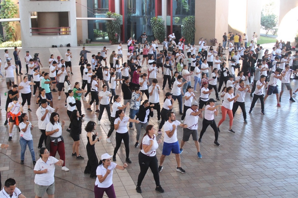
[[[56,158],[49,156],[46,163],[39,158],[36,161],[36,164],[34,166],[35,171],[43,171],[44,169],[48,169],[47,173],[43,174],[35,174],[34,183],[38,185],[51,185],[55,182],[54,173],[55,173],[55,163],[57,163],[59,160]]]

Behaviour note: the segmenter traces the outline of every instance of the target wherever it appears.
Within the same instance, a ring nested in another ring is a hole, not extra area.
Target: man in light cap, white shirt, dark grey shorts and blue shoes
[[[195,147],[197,148],[197,156],[198,158],[202,158],[200,152],[200,144],[198,142],[198,117],[203,117],[202,111],[203,109],[198,109],[199,103],[197,101],[192,101],[190,104],[190,108],[186,111],[186,119],[184,124],[187,125],[186,128],[183,129],[183,138],[180,146],[180,154],[183,152],[183,146],[185,142],[189,141],[190,135],[193,137],[193,141],[195,141]]]

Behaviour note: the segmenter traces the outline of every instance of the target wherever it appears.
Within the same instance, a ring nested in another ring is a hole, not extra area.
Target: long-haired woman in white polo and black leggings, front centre
[[[158,144],[162,143],[162,140],[156,140],[156,136],[154,135],[155,131],[156,130],[153,125],[148,125],[140,146],[141,151],[139,152],[139,165],[141,171],[136,185],[136,191],[138,193],[142,193],[141,184],[149,167],[155,180],[155,190],[164,192],[159,183],[158,160],[156,158],[156,149],[158,148]]]

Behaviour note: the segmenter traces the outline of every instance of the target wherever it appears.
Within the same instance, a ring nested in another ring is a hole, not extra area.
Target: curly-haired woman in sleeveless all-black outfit
[[[85,168],[84,173],[90,174],[90,177],[93,179],[96,179],[96,169],[98,166],[98,159],[97,155],[95,153],[95,146],[94,144],[96,142],[99,142],[101,139],[101,136],[99,136],[97,139],[96,136],[98,135],[97,132],[94,132],[96,129],[96,123],[94,121],[89,121],[85,127],[85,130],[87,132],[87,145],[86,145],[86,151],[88,155],[88,162],[87,166]],[[92,138],[92,141],[90,141]]]

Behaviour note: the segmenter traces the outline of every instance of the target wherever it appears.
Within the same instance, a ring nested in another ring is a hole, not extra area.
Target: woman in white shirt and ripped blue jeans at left
[[[31,130],[33,130],[33,125],[28,121],[28,115],[27,113],[22,113],[20,119],[19,128],[21,130],[20,132],[20,144],[21,144],[21,162],[20,164],[24,164],[25,160],[25,151],[26,147],[28,145],[29,151],[31,153],[32,163],[33,165],[36,164],[35,161],[35,152],[33,148],[33,139]]]

